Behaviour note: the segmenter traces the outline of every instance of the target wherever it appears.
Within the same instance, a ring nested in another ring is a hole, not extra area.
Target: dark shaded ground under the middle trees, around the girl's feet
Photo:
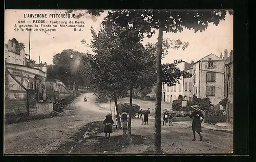
[[[72,142],[61,144],[59,149],[51,153],[71,153],[71,154],[102,154],[120,153],[128,145],[140,145],[145,140],[142,135],[132,135],[132,140],[128,136],[116,135],[106,140],[103,133],[102,121],[91,122],[85,125],[72,137]],[[122,130],[113,128],[113,132]]]

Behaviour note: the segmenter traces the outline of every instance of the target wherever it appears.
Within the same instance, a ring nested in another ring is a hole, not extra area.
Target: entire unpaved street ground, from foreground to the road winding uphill
[[[132,119],[132,140],[115,127],[111,139],[105,140],[102,121],[110,105],[95,106],[93,94],[86,94],[88,102],[83,102],[84,96],[55,118],[5,125],[5,153],[153,153],[154,118],[150,118],[149,125]],[[162,126],[163,153],[232,152],[232,133],[212,130],[203,124],[202,135],[202,142],[198,134],[197,141],[191,141],[189,122]]]

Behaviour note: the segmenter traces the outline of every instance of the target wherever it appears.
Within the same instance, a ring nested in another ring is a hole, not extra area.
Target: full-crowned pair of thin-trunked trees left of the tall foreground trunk
[[[97,32],[91,29],[91,43],[81,40],[94,52],[83,59],[90,85],[96,89],[97,95],[114,100],[117,114],[119,97],[130,94],[130,113],[133,90],[147,94],[150,91],[148,89],[152,89],[157,81],[157,44],[147,43],[144,46],[139,39],[139,33],[131,32],[129,28],[106,23]],[[185,49],[187,45],[188,43],[180,40],[165,39],[163,55],[167,55],[169,48]],[[175,63],[163,64],[162,71],[161,79],[169,86],[176,84],[181,76],[191,77],[191,74],[180,71]],[[131,134],[131,115],[129,118],[128,134]],[[120,121],[118,123],[120,126]]]

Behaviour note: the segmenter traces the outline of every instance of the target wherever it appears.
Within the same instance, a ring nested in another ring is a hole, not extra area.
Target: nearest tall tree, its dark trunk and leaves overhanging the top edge
[[[99,15],[103,10],[89,10],[87,13]],[[232,10],[228,10],[233,14]],[[161,89],[162,89],[162,45],[163,32],[182,32],[183,29],[193,29],[202,32],[207,29],[208,24],[213,22],[218,26],[220,20],[225,20],[227,10],[111,10],[105,21],[115,22],[121,27],[128,27],[151,37],[158,30],[157,45],[157,93],[156,93],[156,115],[155,115],[155,153],[161,152]]]

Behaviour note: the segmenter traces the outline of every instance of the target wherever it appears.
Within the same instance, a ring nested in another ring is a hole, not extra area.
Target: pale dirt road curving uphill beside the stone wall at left
[[[87,96],[88,102],[83,102]],[[48,153],[65,142],[92,121],[102,121],[109,110],[94,105],[93,94],[75,99],[55,118],[5,125],[5,153]],[[72,147],[72,146],[70,146]]]

